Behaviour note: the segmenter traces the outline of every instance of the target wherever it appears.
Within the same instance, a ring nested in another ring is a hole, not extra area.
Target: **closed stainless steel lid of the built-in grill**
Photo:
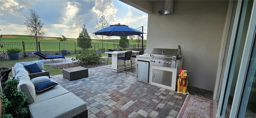
[[[154,48],[151,54],[152,58],[170,58],[176,60],[176,57],[180,55],[180,49],[163,49]]]

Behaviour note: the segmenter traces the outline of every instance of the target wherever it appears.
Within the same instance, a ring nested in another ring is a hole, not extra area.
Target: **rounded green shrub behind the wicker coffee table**
[[[80,55],[76,55],[76,60],[80,65],[100,63],[101,54],[91,50],[84,50]]]

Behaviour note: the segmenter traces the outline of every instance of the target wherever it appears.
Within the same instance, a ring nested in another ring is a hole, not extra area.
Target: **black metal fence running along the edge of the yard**
[[[84,45],[88,45],[88,43],[84,43]],[[3,48],[1,48],[1,53],[6,52],[6,50],[10,48],[20,48],[22,52],[20,52],[20,58],[26,57],[37,57],[33,54],[36,51],[36,42],[2,42]],[[112,49],[116,50],[117,48],[121,48],[119,44],[113,43],[91,43],[92,48],[90,50],[94,50],[97,53],[102,53],[103,49]],[[68,54],[78,54],[82,51],[82,48],[78,47],[77,42],[38,42],[38,51],[46,54],[46,55],[54,55],[60,54],[60,50],[68,50]],[[143,45],[143,49],[146,48],[146,44]],[[142,50],[142,44],[129,44],[128,50]],[[2,53],[3,54],[3,53]],[[8,59],[8,55],[4,54],[4,58]]]

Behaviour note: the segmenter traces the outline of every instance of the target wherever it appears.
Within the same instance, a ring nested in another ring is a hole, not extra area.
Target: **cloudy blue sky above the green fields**
[[[148,14],[119,0],[0,0],[0,33],[26,35],[24,22],[30,9],[38,13],[48,37],[63,34],[66,38],[78,38],[85,24],[95,39],[93,27],[103,15],[110,25],[120,23],[138,30],[143,26],[143,32],[147,33]]]

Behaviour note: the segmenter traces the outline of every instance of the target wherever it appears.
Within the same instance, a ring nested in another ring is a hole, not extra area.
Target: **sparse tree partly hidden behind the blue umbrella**
[[[104,29],[104,28],[106,28],[106,27],[108,27],[109,26],[109,23],[108,23],[108,21],[105,19],[105,17],[104,16],[101,16],[100,17],[100,20],[99,20],[99,22],[98,21],[96,21],[96,25],[94,26],[94,30],[95,31],[98,31],[98,30],[102,30],[102,29]],[[95,38],[97,38],[97,39],[102,39],[102,48],[103,48],[103,38],[108,38],[108,36],[104,36],[104,35],[95,35]]]

